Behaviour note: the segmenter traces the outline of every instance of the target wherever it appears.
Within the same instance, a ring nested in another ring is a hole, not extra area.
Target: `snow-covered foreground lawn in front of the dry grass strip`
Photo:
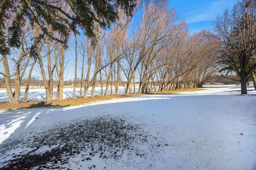
[[[256,169],[256,91],[206,87],[0,113],[2,169]]]

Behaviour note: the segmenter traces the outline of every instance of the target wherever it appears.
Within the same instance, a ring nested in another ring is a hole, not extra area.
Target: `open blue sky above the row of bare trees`
[[[168,8],[175,8],[179,19],[185,19],[191,33],[203,29],[212,29],[213,21],[226,9],[233,6],[235,0],[169,0]],[[139,10],[134,18],[133,28],[141,19]]]

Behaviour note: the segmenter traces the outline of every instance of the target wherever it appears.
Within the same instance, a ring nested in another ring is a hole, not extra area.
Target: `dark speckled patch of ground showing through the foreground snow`
[[[97,117],[56,125],[36,134],[30,132],[22,139],[4,143],[0,146],[0,157],[10,159],[0,168],[67,168],[64,165],[69,163],[69,158],[78,154],[84,156],[82,162],[95,156],[103,160],[119,159],[124,151],[143,157],[146,153],[139,145],[148,145],[151,149],[160,146],[159,139],[123,117]],[[21,151],[15,151],[17,149]]]

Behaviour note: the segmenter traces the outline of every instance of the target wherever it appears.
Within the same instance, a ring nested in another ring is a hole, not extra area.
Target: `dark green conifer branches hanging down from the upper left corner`
[[[0,54],[9,54],[10,47],[19,47],[22,25],[29,18],[42,30],[37,39],[45,35],[67,44],[69,32],[78,29],[88,37],[95,37],[94,27],[106,28],[118,18],[118,9],[131,15],[136,0],[5,0],[0,2]],[[6,24],[10,20],[10,24]],[[51,30],[47,29],[50,25]],[[56,38],[58,32],[65,39]]]

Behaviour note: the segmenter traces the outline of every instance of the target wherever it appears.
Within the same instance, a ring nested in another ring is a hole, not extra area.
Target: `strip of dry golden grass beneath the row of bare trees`
[[[204,89],[181,89],[181,90],[171,90],[171,91],[156,91],[150,92],[149,94],[177,94],[178,92],[193,92],[200,91]],[[111,95],[108,97],[105,96],[95,96],[94,98],[77,98],[77,99],[65,99],[65,100],[53,100],[51,103],[46,103],[45,101],[28,101],[27,103],[19,103],[16,105],[11,105],[9,103],[0,103],[0,110],[6,109],[18,109],[18,108],[37,108],[37,107],[67,107],[67,106],[79,106],[89,103],[94,103],[96,101],[110,100],[115,98],[125,98],[125,97],[134,97],[142,96],[146,94],[131,94],[131,95]]]

